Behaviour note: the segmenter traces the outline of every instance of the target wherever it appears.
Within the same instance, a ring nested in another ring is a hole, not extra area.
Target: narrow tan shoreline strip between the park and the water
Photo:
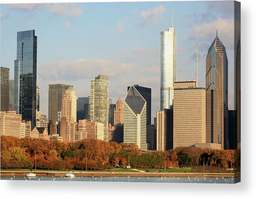
[[[0,171],[1,176],[5,175],[25,175],[25,173],[30,173],[30,171]],[[49,175],[49,176],[58,176],[64,175],[67,173],[65,171],[32,171],[32,173],[36,173],[39,175]],[[74,175],[83,176],[83,177],[107,177],[107,176],[116,176],[116,177],[125,177],[125,176],[145,176],[145,177],[237,177],[240,176],[241,173],[151,173],[151,172],[72,172]]]

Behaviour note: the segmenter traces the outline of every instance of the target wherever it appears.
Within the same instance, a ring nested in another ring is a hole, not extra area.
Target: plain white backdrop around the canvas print
[[[112,0],[112,2],[116,0]],[[126,0],[129,1],[129,0]],[[130,0],[131,1],[131,0]],[[22,2],[50,2],[23,0]],[[54,0],[54,2],[71,2]],[[92,0],[75,2],[92,2]],[[98,2],[108,2],[99,0]],[[241,2],[241,183],[183,184],[183,183],[115,183],[115,182],[57,182],[0,181],[1,198],[255,198],[256,197],[256,130],[255,130],[255,1]],[[20,3],[0,0],[0,3]],[[2,197],[4,196],[4,197]]]

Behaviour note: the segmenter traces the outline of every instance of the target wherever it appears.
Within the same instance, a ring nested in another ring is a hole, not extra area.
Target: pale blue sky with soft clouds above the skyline
[[[234,3],[107,2],[1,4],[0,65],[14,77],[17,32],[35,29],[40,110],[48,115],[48,84],[71,84],[90,95],[90,79],[109,76],[109,98],[124,100],[127,86],[152,89],[151,122],[160,110],[160,32],[177,33],[177,81],[195,79],[205,88],[206,55],[216,36],[228,57],[228,108],[234,110]],[[236,44],[235,44],[236,45]]]

